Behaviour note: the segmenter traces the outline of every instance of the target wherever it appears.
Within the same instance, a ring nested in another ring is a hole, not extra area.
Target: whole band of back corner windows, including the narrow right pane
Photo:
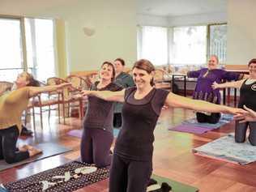
[[[137,41],[138,58],[147,58],[156,66],[203,66],[211,54],[225,62],[227,24],[175,28],[143,26],[138,28]]]

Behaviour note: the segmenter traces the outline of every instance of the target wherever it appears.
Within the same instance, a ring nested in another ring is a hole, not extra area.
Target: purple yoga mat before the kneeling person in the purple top
[[[205,128],[202,126],[190,126],[190,125],[179,125],[169,128],[169,130],[179,131],[179,132],[186,132],[192,134],[203,134],[208,130],[213,130],[214,128]]]

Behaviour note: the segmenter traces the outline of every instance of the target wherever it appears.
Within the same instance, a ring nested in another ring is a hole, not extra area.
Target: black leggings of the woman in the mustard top
[[[8,164],[12,164],[28,159],[28,151],[19,151],[16,148],[18,137],[19,129],[17,126],[0,130],[0,160],[4,159]]]

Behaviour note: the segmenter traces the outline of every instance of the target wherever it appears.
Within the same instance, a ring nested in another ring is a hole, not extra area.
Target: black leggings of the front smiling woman
[[[152,161],[128,160],[113,155],[109,192],[146,192],[152,173]]]

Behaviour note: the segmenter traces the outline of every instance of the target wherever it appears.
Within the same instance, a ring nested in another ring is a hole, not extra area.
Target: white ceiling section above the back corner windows
[[[226,12],[228,0],[136,0],[137,13],[181,16]]]

